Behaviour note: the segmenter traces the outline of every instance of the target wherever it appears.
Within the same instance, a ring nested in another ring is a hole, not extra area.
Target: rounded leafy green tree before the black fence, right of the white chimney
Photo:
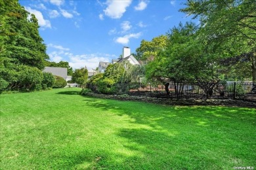
[[[198,62],[202,56],[202,46],[196,41],[196,26],[192,23],[179,24],[167,33],[167,44],[158,56],[146,66],[146,77],[156,79],[165,85],[169,95],[169,82],[175,83],[175,92],[179,84],[192,81],[198,74]]]

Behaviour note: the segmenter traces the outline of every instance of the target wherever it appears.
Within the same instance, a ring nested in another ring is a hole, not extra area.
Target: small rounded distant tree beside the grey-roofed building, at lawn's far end
[[[75,69],[72,75],[72,82],[76,82],[80,86],[83,86],[86,84],[87,80],[88,80],[88,70],[86,67],[83,67],[81,69]]]

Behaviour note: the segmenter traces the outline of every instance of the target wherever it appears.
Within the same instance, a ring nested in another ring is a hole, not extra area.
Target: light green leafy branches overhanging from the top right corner
[[[215,53],[223,62],[250,68],[256,82],[255,1],[189,0],[185,5],[181,11],[200,19],[207,44],[217,44]]]

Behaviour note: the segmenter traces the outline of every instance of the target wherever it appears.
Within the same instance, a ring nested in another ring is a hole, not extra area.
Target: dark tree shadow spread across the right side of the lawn
[[[253,154],[256,148],[251,147],[256,144],[255,109],[179,107],[88,98],[87,105],[125,118],[129,116],[125,121],[131,127],[117,132],[129,141],[123,146],[156,157],[153,164],[160,163],[163,169],[165,165],[175,165],[173,169],[222,169],[224,165],[225,169],[256,159]]]

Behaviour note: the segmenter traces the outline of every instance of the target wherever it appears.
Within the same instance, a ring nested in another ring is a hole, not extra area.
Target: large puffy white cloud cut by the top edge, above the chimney
[[[131,5],[132,0],[108,0],[106,4],[108,7],[104,10],[104,14],[110,18],[118,19],[123,16],[126,8]]]

